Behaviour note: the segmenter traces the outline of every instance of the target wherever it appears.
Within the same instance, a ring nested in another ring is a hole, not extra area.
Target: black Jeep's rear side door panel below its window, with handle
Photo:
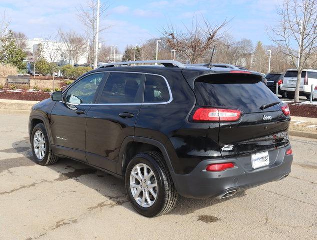
[[[124,138],[134,135],[140,105],[94,105],[87,114],[86,154],[90,164],[106,168],[107,160],[117,161]],[[122,112],[133,117],[122,118]],[[89,154],[92,153],[92,154]],[[94,156],[94,154],[96,156]],[[103,157],[104,160],[100,160]],[[109,169],[110,170],[110,169]]]

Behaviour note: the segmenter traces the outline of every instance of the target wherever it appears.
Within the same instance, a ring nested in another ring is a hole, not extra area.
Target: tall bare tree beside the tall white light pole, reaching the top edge
[[[106,10],[109,5],[106,3],[100,5],[100,20],[106,17]],[[87,40],[90,44],[89,48],[89,63],[94,62],[94,49],[96,44],[96,23],[97,23],[97,1],[86,0],[85,5],[80,5],[77,9],[77,18],[83,24]],[[109,26],[102,26],[100,24],[98,33],[109,28]]]

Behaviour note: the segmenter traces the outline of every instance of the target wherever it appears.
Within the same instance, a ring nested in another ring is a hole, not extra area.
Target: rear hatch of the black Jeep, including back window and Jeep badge
[[[197,109],[238,111],[238,119],[219,118],[219,147],[223,157],[263,152],[288,144],[287,107],[254,74],[210,74],[194,84]],[[274,103],[269,106],[268,104]],[[265,107],[266,105],[266,107]],[[233,113],[232,113],[233,114]],[[209,115],[208,115],[209,116]]]

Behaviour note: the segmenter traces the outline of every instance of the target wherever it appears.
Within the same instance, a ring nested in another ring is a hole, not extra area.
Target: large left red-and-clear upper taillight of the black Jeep
[[[194,115],[194,121],[237,121],[241,111],[236,109],[198,108]]]

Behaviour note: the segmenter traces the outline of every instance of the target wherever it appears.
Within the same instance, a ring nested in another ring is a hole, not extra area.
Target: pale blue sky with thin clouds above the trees
[[[80,33],[83,27],[76,18],[76,6],[85,0],[1,0],[0,15],[10,17],[10,28],[29,38],[47,37],[58,28]],[[266,26],[276,24],[276,6],[283,0],[101,0],[109,4],[108,16],[101,25],[111,27],[102,33],[105,44],[116,44],[121,51],[127,44],[140,44],[160,36],[167,23],[188,25],[194,15],[210,22],[231,20],[229,32],[237,40],[260,40],[271,44]]]

